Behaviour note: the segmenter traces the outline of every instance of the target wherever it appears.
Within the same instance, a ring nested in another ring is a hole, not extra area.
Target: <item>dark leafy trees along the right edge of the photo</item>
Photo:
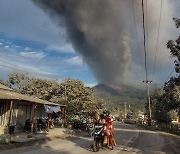
[[[179,19],[175,20],[177,28]],[[167,48],[171,56],[175,57],[176,77],[171,77],[164,84],[163,90],[155,90],[152,95],[152,114],[157,123],[170,123],[172,111],[180,116],[180,36],[176,41],[169,40]]]

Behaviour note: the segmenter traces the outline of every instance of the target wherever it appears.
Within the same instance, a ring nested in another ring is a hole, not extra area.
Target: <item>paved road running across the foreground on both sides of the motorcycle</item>
[[[163,132],[138,128],[135,125],[115,124],[115,150],[101,149],[99,154],[179,154],[180,138]],[[2,154],[92,154],[92,138],[86,134],[68,139],[56,139],[42,145],[4,151]]]

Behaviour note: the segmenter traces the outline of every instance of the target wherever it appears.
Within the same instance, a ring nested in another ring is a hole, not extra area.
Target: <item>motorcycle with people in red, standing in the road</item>
[[[94,140],[92,149],[94,152],[98,152],[101,147],[103,147],[104,142],[104,128],[103,125],[95,125],[94,126]]]

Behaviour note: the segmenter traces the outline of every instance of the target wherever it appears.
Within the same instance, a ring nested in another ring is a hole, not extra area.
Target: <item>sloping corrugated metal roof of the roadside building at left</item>
[[[38,104],[46,104],[46,105],[56,105],[56,106],[60,105],[60,104],[48,102],[39,98],[35,98],[32,96],[19,94],[2,84],[0,84],[0,99],[23,100],[23,101],[34,102]]]

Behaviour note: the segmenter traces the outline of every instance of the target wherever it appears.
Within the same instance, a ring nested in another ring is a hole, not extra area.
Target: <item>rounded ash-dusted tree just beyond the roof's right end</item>
[[[93,97],[92,90],[81,81],[68,78],[62,82],[61,88],[69,114],[79,111],[95,112],[98,109],[99,103]]]

